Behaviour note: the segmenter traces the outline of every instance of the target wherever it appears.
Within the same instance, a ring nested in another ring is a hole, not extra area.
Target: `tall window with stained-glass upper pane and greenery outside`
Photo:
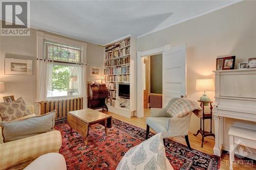
[[[45,54],[48,60],[47,98],[79,96],[81,48],[46,41]]]

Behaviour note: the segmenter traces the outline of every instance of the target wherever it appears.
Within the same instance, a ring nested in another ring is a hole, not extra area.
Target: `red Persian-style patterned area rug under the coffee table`
[[[88,145],[70,127],[66,120],[57,122],[55,129],[62,135],[59,151],[68,169],[115,169],[130,148],[145,140],[146,131],[113,118],[113,126],[105,136],[104,127],[90,127]],[[154,134],[150,133],[150,136]],[[218,169],[220,159],[197,150],[188,150],[183,144],[165,140],[166,156],[174,169]]]

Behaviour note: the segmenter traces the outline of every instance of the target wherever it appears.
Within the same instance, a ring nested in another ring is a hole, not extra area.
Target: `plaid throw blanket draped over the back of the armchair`
[[[182,98],[174,98],[168,103],[167,113],[172,117],[184,117],[188,113],[193,112],[198,117],[202,117],[202,108],[196,101]]]

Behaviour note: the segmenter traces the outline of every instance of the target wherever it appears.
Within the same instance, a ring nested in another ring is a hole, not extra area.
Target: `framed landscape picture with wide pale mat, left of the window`
[[[6,58],[5,75],[32,75],[32,60]]]

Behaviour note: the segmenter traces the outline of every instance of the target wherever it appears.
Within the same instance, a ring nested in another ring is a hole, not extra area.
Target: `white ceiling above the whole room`
[[[230,1],[31,1],[31,26],[96,44],[139,36]]]

